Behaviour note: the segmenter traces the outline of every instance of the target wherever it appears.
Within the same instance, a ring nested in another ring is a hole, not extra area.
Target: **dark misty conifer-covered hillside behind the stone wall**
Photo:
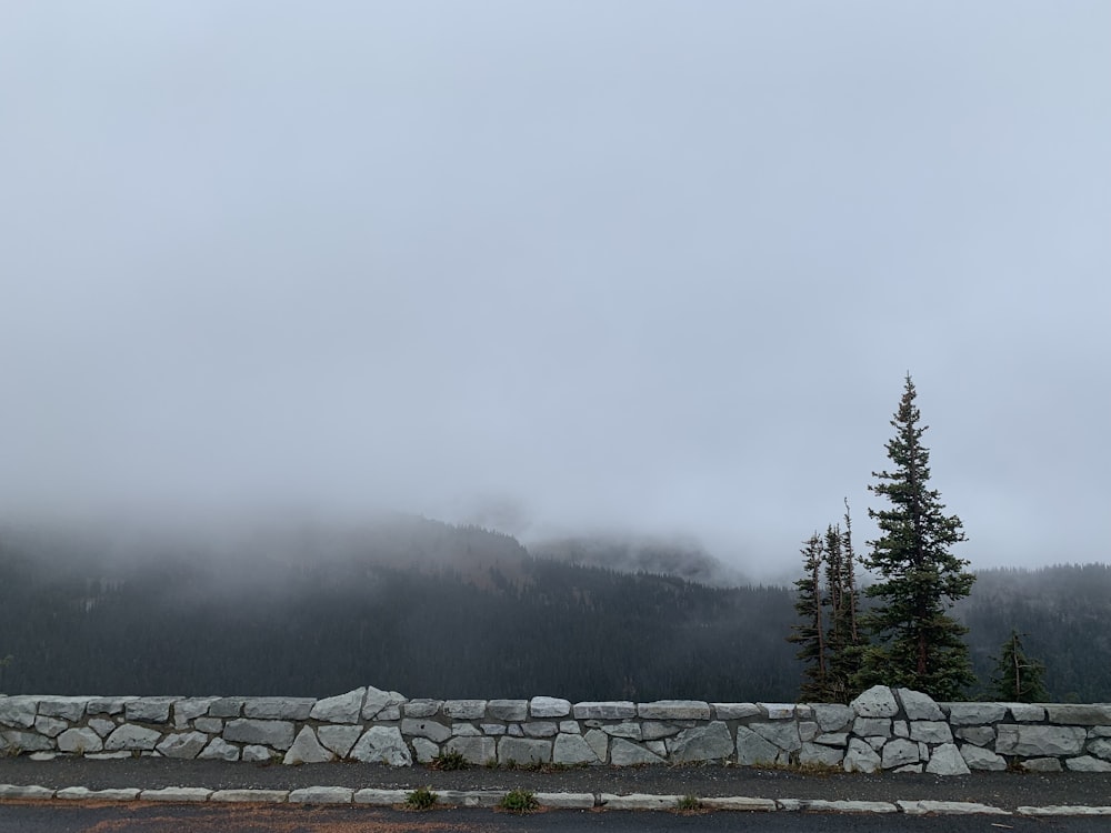
[[[534,559],[423,519],[189,543],[0,531],[0,691],[793,701],[793,589]],[[1111,570],[982,571],[987,691],[1012,629],[1063,701],[1111,700]]]

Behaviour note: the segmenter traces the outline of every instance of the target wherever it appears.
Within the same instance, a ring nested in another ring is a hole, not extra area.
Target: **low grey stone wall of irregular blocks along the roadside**
[[[728,761],[968,774],[1111,772],[1111,705],[935,703],[874,686],[850,705],[334,697],[0,696],[0,751],[410,766]]]

